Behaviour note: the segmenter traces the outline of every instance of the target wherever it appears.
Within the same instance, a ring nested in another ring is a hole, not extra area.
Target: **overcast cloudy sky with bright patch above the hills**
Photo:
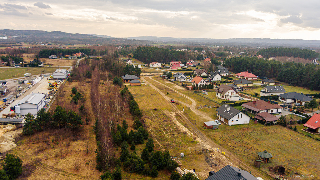
[[[318,40],[319,7],[319,0],[2,0],[0,29]]]

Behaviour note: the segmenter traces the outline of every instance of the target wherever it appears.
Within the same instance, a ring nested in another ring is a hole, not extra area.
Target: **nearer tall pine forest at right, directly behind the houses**
[[[256,57],[233,57],[223,61],[223,65],[235,73],[248,71],[256,76],[274,78],[294,86],[320,90],[320,69],[313,64],[264,60]]]

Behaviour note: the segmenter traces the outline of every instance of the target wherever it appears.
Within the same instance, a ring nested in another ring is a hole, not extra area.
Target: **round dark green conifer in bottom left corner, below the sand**
[[[22,160],[13,154],[7,154],[3,162],[3,170],[10,180],[16,179],[22,173]]]

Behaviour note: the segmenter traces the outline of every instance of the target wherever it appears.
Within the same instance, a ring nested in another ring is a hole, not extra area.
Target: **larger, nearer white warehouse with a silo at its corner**
[[[37,114],[45,105],[45,94],[33,93],[28,94],[15,106],[16,114],[19,115],[20,107],[20,116],[24,116],[30,112],[31,114]],[[17,107],[18,106],[18,107]]]

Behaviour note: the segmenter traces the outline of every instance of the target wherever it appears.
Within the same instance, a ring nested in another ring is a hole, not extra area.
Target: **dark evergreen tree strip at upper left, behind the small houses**
[[[42,49],[39,52],[39,58],[48,58],[51,55],[56,55],[56,56],[71,55],[79,52],[85,53],[87,55],[91,55],[91,49],[89,48],[76,48],[76,49],[52,48],[52,49]]]

